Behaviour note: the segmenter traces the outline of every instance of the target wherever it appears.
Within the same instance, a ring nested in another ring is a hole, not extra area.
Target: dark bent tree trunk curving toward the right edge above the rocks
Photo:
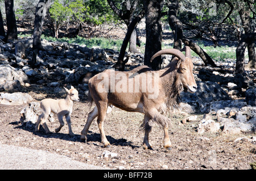
[[[245,71],[245,49],[247,45],[256,41],[256,33],[243,35],[236,49],[236,73],[242,74]]]

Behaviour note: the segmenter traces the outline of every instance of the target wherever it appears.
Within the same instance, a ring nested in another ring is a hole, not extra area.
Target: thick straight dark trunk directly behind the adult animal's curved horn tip
[[[162,49],[162,26],[160,23],[161,1],[144,0],[143,5],[146,17],[146,46],[144,54],[144,65],[150,66],[154,70],[161,69],[162,58],[156,57],[150,62],[151,57]]]

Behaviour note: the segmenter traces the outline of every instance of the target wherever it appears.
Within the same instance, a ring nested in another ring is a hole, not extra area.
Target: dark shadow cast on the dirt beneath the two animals
[[[43,138],[56,138],[56,139],[65,140],[65,141],[85,142],[80,139],[80,136],[81,136],[80,134],[75,134],[74,136],[70,136],[67,133],[55,133],[55,132],[46,133],[42,125],[40,125],[39,132],[35,132],[35,124],[31,122],[26,122],[23,125],[21,125],[19,121],[14,121],[9,124],[16,125],[14,129],[22,129],[24,131],[31,132],[36,136],[40,136]],[[106,138],[112,145],[115,145],[115,146],[131,146],[131,148],[133,149],[139,147],[139,146],[132,145],[131,141],[127,141],[124,138],[115,139],[112,136],[106,136]],[[101,142],[100,133],[94,133],[92,131],[89,131],[87,135],[86,144],[92,144],[91,142],[93,142],[93,144],[94,142]],[[95,144],[95,145],[98,145],[98,144]],[[103,147],[103,145],[98,145],[98,146]]]

